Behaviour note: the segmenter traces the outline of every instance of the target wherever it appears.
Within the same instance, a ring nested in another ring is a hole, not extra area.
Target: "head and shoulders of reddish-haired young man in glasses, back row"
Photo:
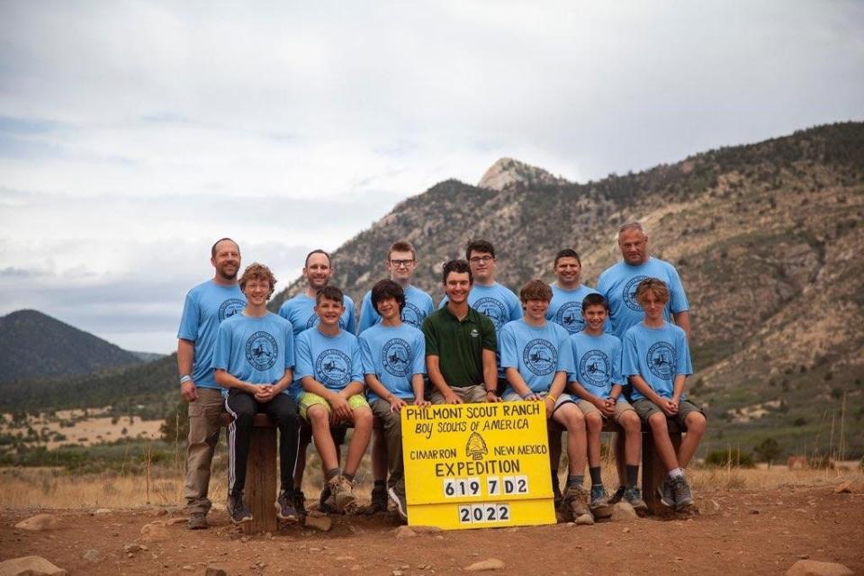
[[[423,326],[423,320],[432,313],[432,297],[423,292],[417,286],[411,285],[411,276],[417,268],[417,251],[410,242],[399,240],[393,242],[387,250],[387,271],[390,279],[402,287],[405,293],[405,307],[401,312],[401,320],[419,329]],[[357,334],[375,324],[381,322],[381,314],[375,310],[372,302],[372,291],[363,297],[360,305],[360,320],[357,322]]]

